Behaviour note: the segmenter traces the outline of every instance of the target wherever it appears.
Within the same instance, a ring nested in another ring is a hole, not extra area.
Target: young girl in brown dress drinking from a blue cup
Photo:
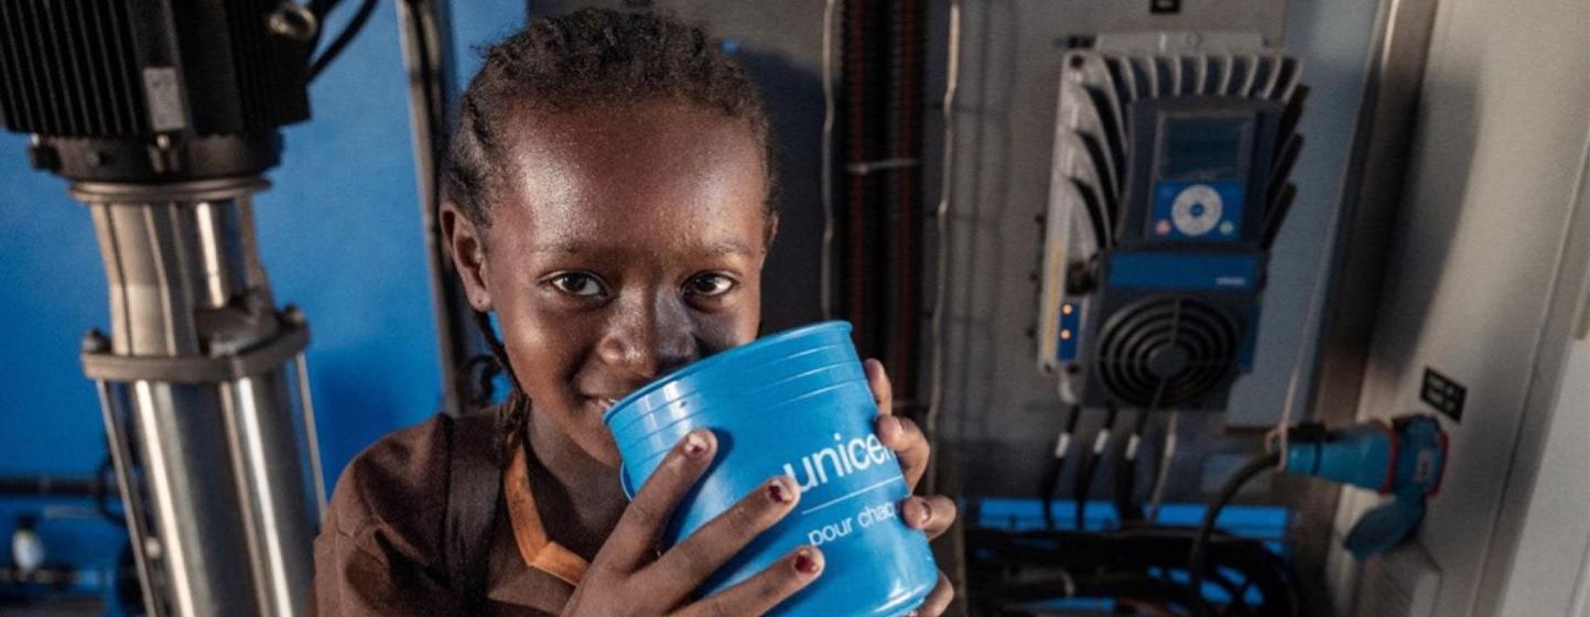
[[[658,553],[717,442],[685,436],[630,503],[601,421],[655,377],[757,336],[778,216],[744,70],[700,30],[587,10],[493,46],[461,107],[440,221],[482,329],[496,313],[514,391],[494,425],[437,417],[348,464],[315,541],[318,612],[749,615],[820,577],[822,552],[801,547],[692,598],[798,487],[768,479]],[[867,374],[878,436],[914,487],[927,442],[889,415],[882,367]],[[956,518],[943,496],[900,510],[930,537]],[[919,612],[951,595],[940,577]]]

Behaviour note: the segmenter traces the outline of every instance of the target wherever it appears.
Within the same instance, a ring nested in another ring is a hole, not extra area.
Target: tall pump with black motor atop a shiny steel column
[[[280,0],[11,0],[0,124],[94,216],[83,340],[151,615],[301,614],[324,487],[304,348],[250,197],[308,118],[313,14]]]

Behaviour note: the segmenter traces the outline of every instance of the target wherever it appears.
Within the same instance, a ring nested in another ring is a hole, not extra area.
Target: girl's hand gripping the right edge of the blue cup
[[[894,415],[894,388],[889,385],[889,374],[884,364],[868,359],[867,383],[873,388],[873,401],[878,402],[878,440],[895,452],[900,458],[900,469],[905,472],[906,487],[914,493],[922,474],[927,472],[929,445],[922,429],[911,418]],[[900,518],[906,526],[922,530],[927,539],[935,539],[956,523],[956,503],[943,495],[911,496],[898,504]],[[949,609],[949,601],[956,598],[956,588],[938,572],[938,585],[927,595],[921,615],[941,615]]]

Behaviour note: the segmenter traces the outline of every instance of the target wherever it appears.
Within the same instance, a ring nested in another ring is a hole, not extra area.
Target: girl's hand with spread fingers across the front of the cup
[[[706,429],[674,445],[596,552],[564,615],[760,615],[822,574],[822,552],[800,547],[735,587],[687,603],[708,576],[800,501],[792,479],[770,479],[653,560],[658,534],[716,450]]]

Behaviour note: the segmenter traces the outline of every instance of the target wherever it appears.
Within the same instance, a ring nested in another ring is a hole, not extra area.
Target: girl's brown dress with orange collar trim
[[[463,614],[447,584],[442,518],[452,453],[445,420],[393,433],[337,480],[315,539],[313,614],[323,617]],[[488,568],[488,615],[555,615],[587,563],[547,537],[529,491],[525,448],[502,474]]]

